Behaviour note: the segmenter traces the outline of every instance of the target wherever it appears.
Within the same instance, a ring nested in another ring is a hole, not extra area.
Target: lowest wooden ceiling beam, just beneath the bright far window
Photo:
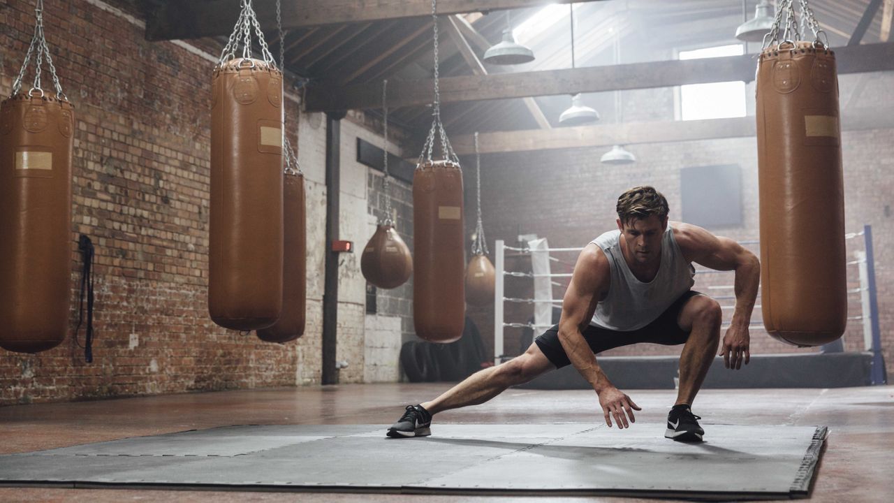
[[[841,114],[842,131],[894,128],[894,108],[845,110]],[[654,123],[604,124],[527,131],[481,132],[478,146],[482,154],[524,152],[552,149],[582,149],[672,143],[679,141],[747,138],[756,134],[754,116],[701,121],[668,121]],[[471,134],[455,135],[451,144],[460,156],[475,153]]]

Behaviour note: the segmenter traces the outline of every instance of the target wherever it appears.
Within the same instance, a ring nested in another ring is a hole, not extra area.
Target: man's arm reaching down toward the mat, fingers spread
[[[599,396],[605,422],[611,427],[614,416],[619,428],[636,422],[633,410],[640,408],[630,397],[615,388],[596,362],[595,354],[586,344],[583,328],[589,325],[598,303],[605,296],[610,284],[610,268],[605,254],[595,244],[588,244],[578,256],[574,274],[562,300],[559,320],[559,341],[571,364],[590,383]],[[626,413],[626,415],[625,415]]]

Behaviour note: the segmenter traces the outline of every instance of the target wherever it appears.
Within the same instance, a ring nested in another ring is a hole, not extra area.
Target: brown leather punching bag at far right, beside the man
[[[848,318],[835,55],[810,42],[763,51],[757,72],[763,324],[822,345]]]

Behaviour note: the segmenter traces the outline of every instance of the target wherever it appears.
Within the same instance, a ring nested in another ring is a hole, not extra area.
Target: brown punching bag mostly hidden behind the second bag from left
[[[283,313],[273,327],[257,330],[266,342],[284,343],[304,334],[307,293],[307,211],[304,175],[286,175],[283,182]]]

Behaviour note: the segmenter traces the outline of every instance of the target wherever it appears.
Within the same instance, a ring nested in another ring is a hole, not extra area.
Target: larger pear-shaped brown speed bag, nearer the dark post
[[[360,257],[360,271],[379,288],[397,288],[413,274],[413,258],[394,226],[377,226]]]

